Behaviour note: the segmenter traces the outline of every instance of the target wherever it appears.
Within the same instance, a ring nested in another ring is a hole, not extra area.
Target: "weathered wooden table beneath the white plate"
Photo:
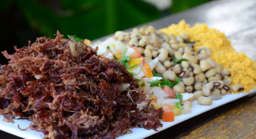
[[[232,41],[238,52],[244,52],[256,59],[256,1],[220,0],[205,3],[184,12],[170,15],[154,22],[137,26],[151,25],[155,28],[168,27],[185,19],[195,23],[207,23],[217,28]],[[133,27],[134,28],[134,27]],[[131,31],[132,28],[125,30]],[[104,41],[102,37],[96,41]],[[256,138],[256,94],[250,94],[236,101],[202,113],[189,120],[163,130],[151,138]],[[0,131],[0,138],[15,138]]]

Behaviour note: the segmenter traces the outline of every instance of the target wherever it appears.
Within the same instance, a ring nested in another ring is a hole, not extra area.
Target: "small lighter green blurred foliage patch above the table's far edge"
[[[172,0],[170,10],[172,13],[177,13],[209,1],[211,0]]]

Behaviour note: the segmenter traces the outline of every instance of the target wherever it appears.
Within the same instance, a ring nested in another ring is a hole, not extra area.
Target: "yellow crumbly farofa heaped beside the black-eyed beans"
[[[227,39],[224,33],[220,33],[218,30],[208,28],[207,24],[195,24],[194,27],[190,27],[186,24],[185,20],[179,22],[179,24],[172,24],[167,28],[162,28],[160,31],[169,35],[186,33],[190,35],[190,41],[200,41],[195,44],[194,49],[197,50],[200,47],[208,47],[212,50],[211,58],[215,62],[220,63],[229,69],[232,73],[233,84],[244,85],[243,92],[250,92],[255,89],[256,85],[256,66],[255,60],[251,60],[246,54],[236,52],[230,45],[230,41]],[[237,94],[238,92],[232,92]]]

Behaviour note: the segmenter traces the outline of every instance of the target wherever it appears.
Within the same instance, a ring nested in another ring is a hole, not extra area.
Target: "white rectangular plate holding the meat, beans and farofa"
[[[251,90],[250,92],[255,92],[255,90]],[[229,94],[229,95],[223,95],[222,99],[213,101],[211,105],[209,106],[204,106],[204,105],[199,105],[197,101],[193,101],[192,105],[192,113],[186,114],[186,115],[180,115],[175,117],[174,122],[162,122],[163,127],[158,128],[159,131],[168,129],[169,127],[174,126],[175,124],[181,123],[184,120],[190,119],[191,117],[200,115],[201,113],[207,112],[211,109],[217,108],[218,106],[227,104],[228,102],[234,101],[236,99],[239,99],[241,97],[244,97],[248,94],[251,93],[239,93],[239,94]],[[37,132],[34,130],[26,130],[22,131],[18,129],[17,124],[20,125],[21,129],[25,129],[26,127],[29,127],[30,122],[27,122],[27,120],[14,120],[14,124],[12,123],[6,123],[2,121],[3,116],[0,116],[0,130],[5,131],[7,133],[13,134],[15,136],[19,136],[22,138],[27,138],[27,139],[41,139],[44,135],[41,132]],[[134,128],[131,129],[133,131],[132,134],[126,134],[124,136],[120,136],[119,138],[145,138],[148,136],[151,136],[152,134],[158,133],[159,131],[154,131],[154,130],[146,130],[143,128]]]

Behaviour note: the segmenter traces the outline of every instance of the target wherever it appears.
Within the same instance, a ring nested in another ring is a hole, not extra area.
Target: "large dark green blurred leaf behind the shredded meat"
[[[95,39],[117,30],[158,19],[161,13],[137,0],[12,0],[23,12],[27,24],[41,35],[54,37],[56,30],[80,38]]]

